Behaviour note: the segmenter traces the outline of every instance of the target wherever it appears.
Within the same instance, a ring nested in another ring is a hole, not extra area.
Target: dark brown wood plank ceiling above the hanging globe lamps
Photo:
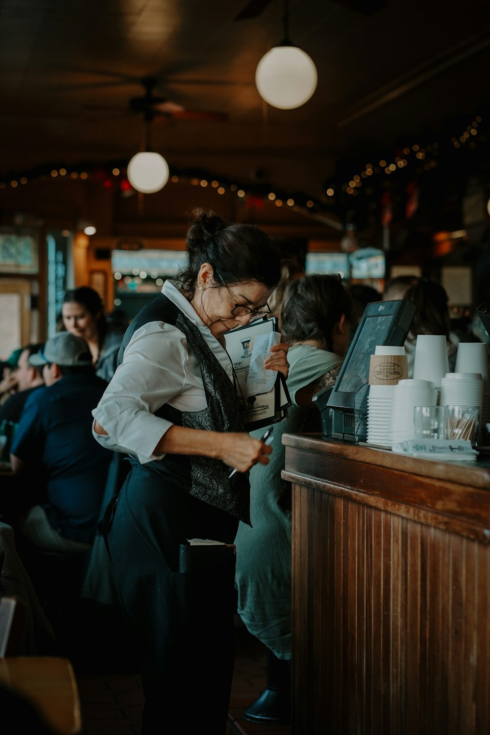
[[[0,0],[0,176],[56,160],[131,157],[140,79],[187,110],[226,121],[152,123],[171,165],[262,175],[324,196],[346,158],[378,157],[401,136],[469,123],[488,107],[487,0],[291,0],[293,42],[317,65],[297,110],[262,103],[257,63],[282,37],[282,0],[235,20],[246,0]],[[359,10],[361,7],[361,10]],[[465,125],[466,126],[466,125]],[[457,130],[456,132],[459,131]]]

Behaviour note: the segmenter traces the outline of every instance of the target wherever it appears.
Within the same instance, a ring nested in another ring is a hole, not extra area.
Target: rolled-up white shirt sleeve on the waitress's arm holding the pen
[[[123,362],[115,371],[92,415],[107,431],[93,436],[112,451],[129,453],[142,464],[161,459],[154,448],[172,423],[154,415],[170,404],[180,410],[204,408],[202,379],[184,334],[163,322],[150,322],[131,337]],[[194,376],[194,377],[193,377]]]

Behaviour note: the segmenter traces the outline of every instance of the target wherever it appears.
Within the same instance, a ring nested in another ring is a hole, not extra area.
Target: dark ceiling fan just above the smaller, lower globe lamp
[[[211,122],[224,122],[228,119],[226,112],[215,112],[212,110],[187,110],[186,107],[173,102],[167,97],[154,94],[154,87],[159,83],[156,76],[144,76],[140,79],[143,86],[143,95],[129,99],[129,110],[138,115],[142,114],[146,121],[152,121],[156,117],[164,116],[178,120],[203,120]],[[100,107],[87,105],[86,110],[114,110],[113,107]],[[120,108],[118,108],[120,109]]]

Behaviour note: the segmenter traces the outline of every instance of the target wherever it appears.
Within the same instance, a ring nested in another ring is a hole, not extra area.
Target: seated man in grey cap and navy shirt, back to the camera
[[[29,362],[46,384],[26,401],[10,450],[27,505],[17,535],[57,639],[72,652],[91,639],[79,600],[112,459],[92,436],[91,411],[107,383],[96,376],[87,343],[67,331]]]

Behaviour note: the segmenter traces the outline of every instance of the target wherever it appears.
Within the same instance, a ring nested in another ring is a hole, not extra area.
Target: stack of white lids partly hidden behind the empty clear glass
[[[436,405],[437,391],[432,381],[417,378],[400,380],[393,392],[390,445],[415,439],[415,406]]]

